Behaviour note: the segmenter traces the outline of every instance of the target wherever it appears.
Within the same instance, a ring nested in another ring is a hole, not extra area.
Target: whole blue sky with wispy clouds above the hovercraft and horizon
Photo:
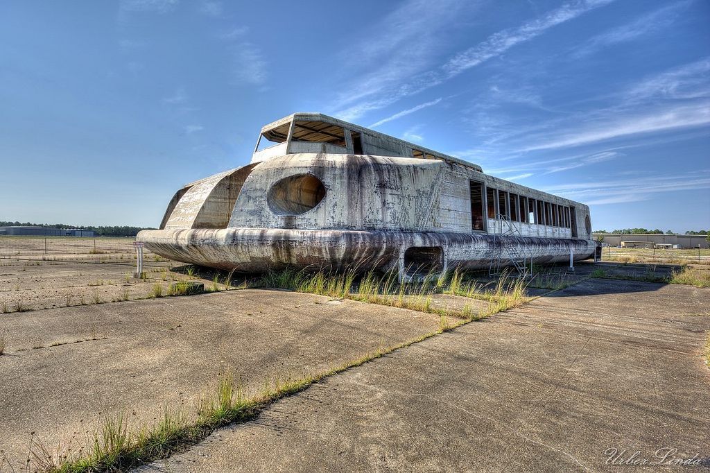
[[[4,1],[0,219],[157,226],[323,112],[591,206],[710,227],[706,0]]]

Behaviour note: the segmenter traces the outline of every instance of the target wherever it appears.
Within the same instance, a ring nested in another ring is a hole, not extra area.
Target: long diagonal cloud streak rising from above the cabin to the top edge
[[[516,28],[508,28],[486,38],[481,43],[461,51],[453,58],[434,69],[413,73],[407,69],[404,73],[390,71],[387,68],[376,76],[368,76],[358,86],[355,93],[349,97],[341,97],[339,103],[351,103],[359,100],[361,103],[336,112],[337,116],[346,119],[356,119],[372,110],[387,107],[403,97],[422,92],[425,89],[442,84],[460,75],[462,72],[476,67],[491,58],[506,53],[513,46],[530,41],[550,28],[570,21],[582,14],[611,3],[613,0],[577,0],[560,6],[535,20],[523,23]],[[428,25],[422,31],[428,31]],[[411,79],[411,77],[414,77]],[[366,97],[373,97],[363,102]]]

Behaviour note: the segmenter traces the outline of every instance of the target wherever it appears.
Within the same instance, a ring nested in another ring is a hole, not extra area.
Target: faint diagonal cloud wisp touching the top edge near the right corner
[[[686,0],[663,6],[660,9],[640,16],[635,21],[626,25],[596,35],[586,40],[577,48],[572,54],[572,57],[579,59],[586,55],[596,53],[596,51],[608,46],[626,43],[627,41],[635,40],[650,33],[660,31],[663,28],[667,28],[674,23],[680,11],[691,3],[692,0]]]

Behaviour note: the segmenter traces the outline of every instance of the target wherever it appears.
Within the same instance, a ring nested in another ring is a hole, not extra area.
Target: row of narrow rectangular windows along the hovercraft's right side
[[[488,218],[507,217],[512,222],[523,222],[550,227],[570,228],[570,208],[544,200],[513,194],[486,187]]]

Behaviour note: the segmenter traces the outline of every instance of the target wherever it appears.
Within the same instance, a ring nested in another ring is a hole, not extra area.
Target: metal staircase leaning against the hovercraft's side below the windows
[[[498,222],[500,222],[500,227],[498,227]],[[501,276],[502,266],[512,266],[513,272],[508,273],[507,276],[528,278],[532,267],[532,256],[528,258],[524,254],[524,250],[518,248],[515,241],[510,238],[521,236],[518,227],[515,227],[513,222],[510,222],[510,218],[507,215],[499,214],[492,235],[493,253],[488,265],[488,275]]]

